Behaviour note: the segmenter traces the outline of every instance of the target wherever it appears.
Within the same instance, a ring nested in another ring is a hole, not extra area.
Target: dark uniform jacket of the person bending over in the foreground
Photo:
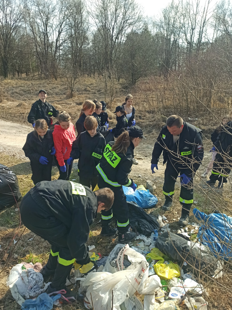
[[[37,183],[30,193],[40,206],[37,214],[41,214],[43,219],[47,217],[50,227],[53,227],[50,240],[54,239],[54,236],[58,238],[67,235],[67,246],[72,257],[77,260],[85,258],[89,226],[97,211],[97,197],[94,192],[78,183],[55,180]],[[36,226],[39,227],[39,224],[38,221]],[[44,228],[41,226],[41,235]]]

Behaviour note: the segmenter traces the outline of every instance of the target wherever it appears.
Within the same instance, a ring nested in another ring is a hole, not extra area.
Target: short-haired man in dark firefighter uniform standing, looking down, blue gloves
[[[193,179],[204,156],[202,131],[186,122],[178,115],[168,117],[166,125],[161,129],[152,152],[151,170],[158,170],[161,153],[167,162],[164,175],[163,194],[165,203],[163,210],[169,211],[172,206],[175,182],[180,175],[182,204],[181,218],[178,224],[186,226],[189,220],[191,205],[193,204]]]

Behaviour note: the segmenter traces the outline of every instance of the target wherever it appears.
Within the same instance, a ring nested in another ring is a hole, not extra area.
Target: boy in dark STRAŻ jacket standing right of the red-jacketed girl
[[[86,131],[82,132],[73,142],[70,158],[67,163],[78,159],[79,182],[92,190],[97,185],[96,166],[100,162],[103,150],[105,148],[105,138],[97,131],[97,120],[93,116],[87,116],[84,120]]]

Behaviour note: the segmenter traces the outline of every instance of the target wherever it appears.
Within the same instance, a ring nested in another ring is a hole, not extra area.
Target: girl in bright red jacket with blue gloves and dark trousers
[[[71,123],[71,117],[67,112],[61,112],[57,118],[59,125],[55,125],[52,135],[56,150],[55,162],[60,172],[58,180],[68,181],[73,162],[71,162],[71,165],[68,165],[67,159],[70,157],[72,143],[76,139],[75,129]]]

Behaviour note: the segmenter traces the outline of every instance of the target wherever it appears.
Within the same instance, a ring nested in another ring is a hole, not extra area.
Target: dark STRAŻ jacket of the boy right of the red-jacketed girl
[[[79,175],[86,178],[98,175],[96,166],[100,162],[102,153],[105,149],[105,138],[99,132],[93,137],[88,131],[82,132],[72,143],[70,157],[78,159]]]

